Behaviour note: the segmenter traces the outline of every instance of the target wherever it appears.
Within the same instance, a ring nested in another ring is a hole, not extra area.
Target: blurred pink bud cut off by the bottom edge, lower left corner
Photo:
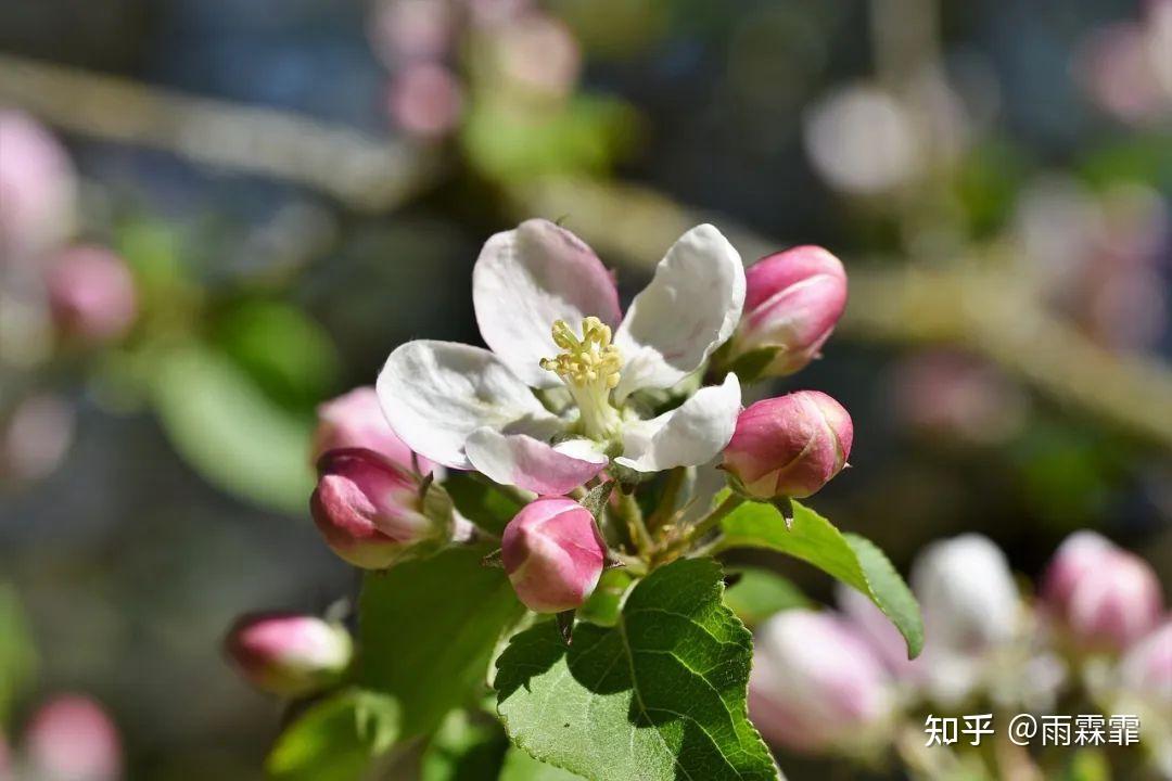
[[[118,731],[87,697],[59,697],[33,715],[25,734],[32,777],[41,781],[115,781],[122,776]]]

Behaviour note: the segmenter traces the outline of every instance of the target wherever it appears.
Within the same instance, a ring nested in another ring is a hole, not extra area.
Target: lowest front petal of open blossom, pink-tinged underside
[[[568,493],[609,464],[586,439],[547,445],[527,434],[502,434],[493,429],[479,429],[468,438],[468,458],[492,480],[541,495]]]

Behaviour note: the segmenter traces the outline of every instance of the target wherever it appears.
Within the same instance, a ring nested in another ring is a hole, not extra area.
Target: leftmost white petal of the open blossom
[[[472,468],[464,441],[477,429],[548,437],[560,429],[533,391],[488,350],[420,340],[395,349],[379,375],[379,403],[408,447]]]

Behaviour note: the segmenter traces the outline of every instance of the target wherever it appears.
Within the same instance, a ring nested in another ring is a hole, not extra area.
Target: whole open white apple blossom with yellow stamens
[[[566,493],[612,459],[635,472],[704,464],[732,436],[735,375],[650,419],[632,395],[703,366],[740,321],[744,290],[741,256],[701,225],[672,246],[624,316],[594,252],[529,220],[490,238],[472,272],[490,350],[408,342],[387,359],[379,398],[413,451],[540,494]],[[572,402],[558,405],[559,396]]]

